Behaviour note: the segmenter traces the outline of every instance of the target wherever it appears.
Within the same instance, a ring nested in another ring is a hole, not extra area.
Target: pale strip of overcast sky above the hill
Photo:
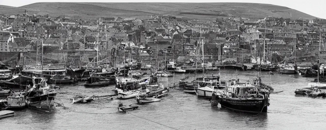
[[[37,2],[49,2],[46,0],[0,0],[0,5],[20,7]],[[111,0],[55,0],[55,2],[117,2]],[[123,0],[118,2],[163,2],[158,0]],[[215,3],[215,2],[242,2],[242,3],[261,3],[278,6],[286,6],[306,14],[326,19],[326,0],[164,0],[164,2],[193,2],[193,3]]]

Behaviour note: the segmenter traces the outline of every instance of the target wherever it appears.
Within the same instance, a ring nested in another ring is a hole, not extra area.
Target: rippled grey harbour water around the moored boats
[[[208,71],[216,73],[215,71]],[[236,78],[235,70],[221,69],[221,80]],[[174,82],[186,74],[175,74]],[[198,74],[201,76],[202,74]],[[252,80],[257,71],[237,71],[240,82]],[[314,129],[324,127],[326,122],[326,99],[295,97],[296,88],[306,87],[313,78],[301,75],[269,75],[262,72],[262,82],[270,84],[274,91],[283,91],[270,95],[271,105],[267,113],[252,115],[237,113],[231,110],[211,108],[209,100],[198,98],[195,94],[186,94],[181,90],[170,89],[169,95],[160,102],[140,105],[139,109],[129,111],[131,114],[120,113],[118,103],[137,105],[135,98],[119,100],[96,98],[85,104],[72,104],[71,99],[78,94],[109,95],[113,94],[114,86],[102,88],[85,88],[84,83],[77,85],[60,85],[57,90],[56,102],[64,103],[65,107],[57,107],[52,113],[25,109],[15,111],[14,117],[1,119],[0,129]],[[195,74],[189,76],[193,80]],[[173,78],[169,78],[172,82]],[[133,114],[133,115],[132,115]],[[136,116],[154,121],[148,121]],[[164,125],[160,125],[160,124]]]

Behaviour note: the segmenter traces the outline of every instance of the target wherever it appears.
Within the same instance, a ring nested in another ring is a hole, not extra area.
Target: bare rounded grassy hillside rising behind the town
[[[315,19],[303,12],[269,4],[256,3],[34,3],[21,7],[0,6],[5,14],[23,13],[79,18],[141,17],[149,15],[173,15],[188,19],[213,19],[217,16],[242,16],[264,18],[267,16],[291,19]],[[249,11],[249,13],[248,13]]]

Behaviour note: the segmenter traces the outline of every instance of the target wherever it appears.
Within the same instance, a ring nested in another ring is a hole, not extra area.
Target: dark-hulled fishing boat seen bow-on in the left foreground
[[[56,94],[44,77],[33,77],[33,87],[25,93],[25,101],[28,108],[51,112],[55,108]]]

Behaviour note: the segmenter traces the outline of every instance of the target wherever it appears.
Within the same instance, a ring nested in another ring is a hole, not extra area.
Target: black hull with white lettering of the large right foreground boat
[[[267,99],[233,99],[233,98],[219,98],[218,103],[222,108],[230,110],[260,113],[267,112]]]

